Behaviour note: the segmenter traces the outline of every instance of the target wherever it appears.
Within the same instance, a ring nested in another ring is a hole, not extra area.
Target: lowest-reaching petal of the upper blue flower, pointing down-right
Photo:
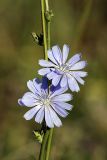
[[[74,91],[76,91],[76,92],[80,91],[80,88],[78,86],[77,81],[71,75],[68,76],[68,85],[69,85],[69,88],[70,88],[71,91],[73,91],[73,92]]]

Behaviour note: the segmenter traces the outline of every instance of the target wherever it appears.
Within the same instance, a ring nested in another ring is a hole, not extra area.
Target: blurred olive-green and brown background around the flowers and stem
[[[107,160],[107,1],[50,0],[54,12],[51,45],[71,46],[88,61],[85,86],[74,94],[74,108],[55,128],[51,160]],[[40,145],[17,99],[37,76],[42,47],[40,0],[0,0],[0,160],[34,160]]]

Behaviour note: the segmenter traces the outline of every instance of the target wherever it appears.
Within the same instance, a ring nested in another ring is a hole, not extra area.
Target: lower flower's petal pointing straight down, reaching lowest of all
[[[46,125],[49,128],[53,128],[54,127],[54,123],[53,123],[53,120],[52,120],[52,118],[50,116],[49,107],[50,106],[45,106],[45,121],[46,121]]]

